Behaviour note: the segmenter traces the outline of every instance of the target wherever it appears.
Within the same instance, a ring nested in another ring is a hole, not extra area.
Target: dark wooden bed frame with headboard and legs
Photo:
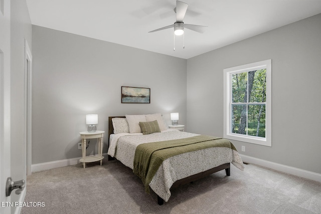
[[[114,116],[114,117],[116,117],[116,116]],[[114,117],[108,117],[108,140],[109,140],[110,134],[114,133],[114,128],[113,128],[112,120],[111,120]],[[125,116],[118,116],[118,117],[125,118]],[[112,160],[112,159],[114,159],[114,158],[108,155],[108,160]],[[183,178],[181,180],[177,180],[177,181],[175,181],[173,183],[171,188],[175,188],[175,187],[178,187],[180,185],[184,185],[186,183],[193,182],[193,181],[195,181],[197,179],[200,179],[200,178],[205,177],[207,175],[210,175],[210,174],[213,174],[215,172],[221,171],[223,169],[225,169],[226,175],[230,176],[230,163],[224,163],[224,164],[219,165],[217,167],[214,167],[212,169],[209,169],[209,170],[206,170],[206,171],[191,175],[191,176]],[[159,205],[162,205],[164,203],[164,199],[157,195],[157,203]]]

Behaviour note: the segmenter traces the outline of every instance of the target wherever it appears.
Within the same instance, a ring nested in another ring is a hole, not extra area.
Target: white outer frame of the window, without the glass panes
[[[264,146],[272,146],[271,134],[271,101],[272,101],[272,66],[271,60],[250,63],[224,69],[224,138],[254,143]],[[265,138],[250,135],[243,135],[231,132],[231,75],[236,73],[266,69],[266,104],[265,104]]]

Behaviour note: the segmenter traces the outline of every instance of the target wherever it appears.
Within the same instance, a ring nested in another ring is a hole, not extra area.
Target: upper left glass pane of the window
[[[246,95],[247,72],[232,74],[232,102],[247,102]],[[245,99],[245,100],[244,100]]]

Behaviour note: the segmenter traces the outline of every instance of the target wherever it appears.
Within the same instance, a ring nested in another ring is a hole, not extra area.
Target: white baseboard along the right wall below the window
[[[270,169],[274,169],[277,171],[281,171],[281,172],[285,172],[288,174],[292,174],[292,175],[296,175],[299,177],[304,177],[307,179],[311,179],[311,180],[315,180],[318,182],[321,182],[321,174],[315,173],[315,172],[311,172],[311,171],[307,171],[304,169],[299,169],[299,168],[295,168],[292,166],[287,166],[287,165],[282,165],[279,163],[274,163],[271,161],[267,161],[267,160],[263,160],[263,159],[259,159],[256,157],[251,157],[251,156],[247,156],[244,154],[240,154],[242,160],[244,162],[248,162],[248,163],[254,163],[260,166],[264,166]]]

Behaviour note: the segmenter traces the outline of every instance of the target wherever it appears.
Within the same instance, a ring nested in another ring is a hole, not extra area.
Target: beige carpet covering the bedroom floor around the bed
[[[22,213],[321,213],[321,183],[245,165],[172,189],[159,206],[132,170],[117,160],[34,172],[27,176]]]

